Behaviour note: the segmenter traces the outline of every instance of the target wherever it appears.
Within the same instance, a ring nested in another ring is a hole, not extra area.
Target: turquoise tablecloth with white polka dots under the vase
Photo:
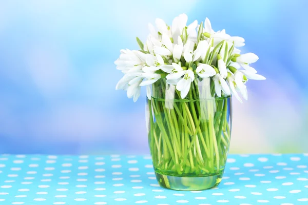
[[[308,204],[308,154],[229,155],[205,191],[161,188],[149,156],[0,155],[0,204]]]

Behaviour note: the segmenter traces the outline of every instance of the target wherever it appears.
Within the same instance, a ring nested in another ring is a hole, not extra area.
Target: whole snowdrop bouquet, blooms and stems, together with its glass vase
[[[208,18],[186,26],[187,15],[181,14],[171,26],[159,18],[155,23],[145,44],[137,38],[141,50],[121,50],[114,63],[124,77],[116,88],[134,101],[147,88],[149,146],[162,186],[216,186],[230,143],[230,95],[242,102],[238,92],[247,99],[247,80],[265,79],[250,65],[258,56],[241,54],[244,38],[215,32]],[[179,186],[170,176],[199,178]]]

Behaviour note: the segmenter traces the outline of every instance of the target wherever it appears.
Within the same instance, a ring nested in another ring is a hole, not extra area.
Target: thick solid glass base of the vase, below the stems
[[[158,172],[155,172],[155,175],[161,187],[179,191],[199,191],[219,185],[223,171],[216,175],[198,177],[170,176]]]

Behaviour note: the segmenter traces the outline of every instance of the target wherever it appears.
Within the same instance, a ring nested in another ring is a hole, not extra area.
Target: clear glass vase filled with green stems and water
[[[222,179],[230,145],[232,102],[217,97],[214,81],[195,79],[181,99],[160,79],[147,100],[149,147],[160,186],[204,190]]]

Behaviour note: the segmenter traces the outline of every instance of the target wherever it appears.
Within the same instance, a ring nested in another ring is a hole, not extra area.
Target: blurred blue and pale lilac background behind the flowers
[[[181,14],[246,40],[265,81],[234,100],[232,153],[308,152],[308,1],[1,1],[0,153],[148,153],[145,90],[113,61]]]

